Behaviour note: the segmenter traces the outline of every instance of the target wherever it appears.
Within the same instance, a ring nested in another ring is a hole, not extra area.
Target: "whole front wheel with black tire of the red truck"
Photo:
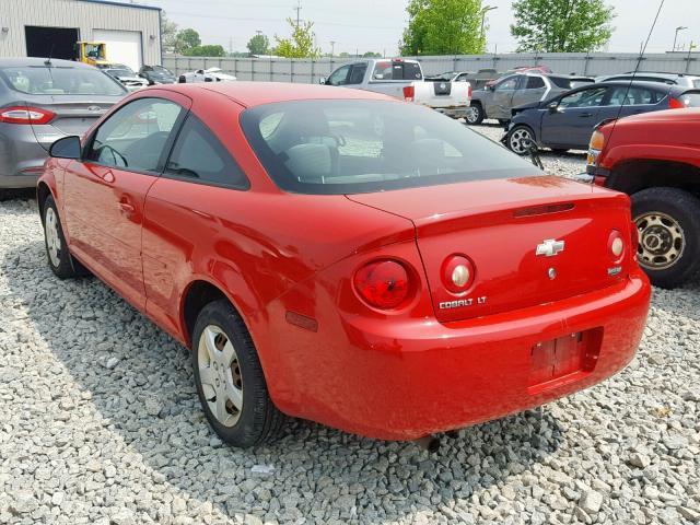
[[[700,200],[677,188],[632,195],[638,259],[653,284],[676,288],[700,270]]]

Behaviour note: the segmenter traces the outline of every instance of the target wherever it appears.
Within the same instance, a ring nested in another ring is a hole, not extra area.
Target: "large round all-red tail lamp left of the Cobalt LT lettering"
[[[377,260],[360,268],[354,275],[354,288],[371,306],[396,308],[410,293],[408,271],[396,260]]]

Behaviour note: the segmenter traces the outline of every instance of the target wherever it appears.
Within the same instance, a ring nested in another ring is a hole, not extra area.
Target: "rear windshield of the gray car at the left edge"
[[[125,89],[92,68],[25,66],[0,69],[10,89],[32,95],[124,95]]]

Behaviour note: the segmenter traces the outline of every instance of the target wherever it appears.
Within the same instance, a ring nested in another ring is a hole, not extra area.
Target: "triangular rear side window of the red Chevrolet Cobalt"
[[[188,115],[165,166],[165,176],[236,189],[248,179],[229,151],[194,115]]]

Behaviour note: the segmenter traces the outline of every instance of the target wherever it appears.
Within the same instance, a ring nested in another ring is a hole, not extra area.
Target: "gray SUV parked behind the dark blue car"
[[[545,74],[535,71],[513,73],[499,79],[493,85],[472,92],[470,110],[465,119],[469,125],[480,124],[485,118],[497,118],[501,124],[506,124],[514,107],[546,101],[559,93],[590,83],[593,83],[593,79],[587,77]]]

